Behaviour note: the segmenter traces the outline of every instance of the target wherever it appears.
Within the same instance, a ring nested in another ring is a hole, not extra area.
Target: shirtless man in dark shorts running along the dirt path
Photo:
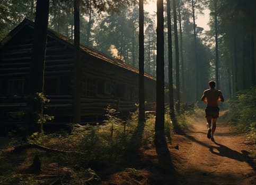
[[[215,89],[216,82],[211,80],[209,81],[209,89],[204,91],[204,94],[201,97],[201,101],[204,101],[207,104],[205,109],[206,114],[206,126],[208,128],[207,137],[214,142],[214,132],[216,130],[216,122],[219,117],[219,107],[218,101],[224,101],[222,96],[222,92],[220,90]],[[212,127],[211,127],[211,124]]]

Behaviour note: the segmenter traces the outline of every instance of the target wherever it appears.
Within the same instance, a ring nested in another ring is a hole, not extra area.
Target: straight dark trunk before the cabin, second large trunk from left
[[[81,123],[80,0],[74,1],[74,123]]]

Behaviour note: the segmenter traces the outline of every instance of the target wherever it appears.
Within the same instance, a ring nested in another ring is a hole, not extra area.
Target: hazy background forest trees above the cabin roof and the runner
[[[155,3],[156,6],[156,1],[146,3]],[[237,91],[254,86],[255,1],[180,0],[176,1],[176,4],[179,48],[182,44],[182,52],[181,50],[179,52],[181,71],[179,85],[182,101],[198,101],[202,90],[207,88],[207,82],[211,79],[217,81],[217,86],[222,89],[225,97],[232,97]],[[164,7],[166,22],[165,1]],[[204,32],[193,18],[206,8],[210,10],[210,30]],[[171,10],[173,26],[173,8]],[[1,1],[0,40],[24,18],[34,21],[35,11],[35,0]],[[110,50],[114,47],[116,56],[112,57],[121,58],[138,68],[137,1],[81,1],[80,16],[82,44],[109,56],[112,56]],[[156,14],[144,11],[144,17],[145,72],[155,76]],[[48,23],[49,29],[73,39],[73,1],[51,0]],[[164,26],[165,81],[168,81],[167,24]],[[174,37],[174,34],[172,36]],[[174,42],[172,45],[175,50]],[[175,63],[173,63],[173,77],[176,76],[174,69]],[[176,85],[175,78],[173,84]]]

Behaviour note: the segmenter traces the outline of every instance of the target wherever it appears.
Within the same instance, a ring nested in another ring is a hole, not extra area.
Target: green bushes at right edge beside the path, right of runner
[[[228,103],[228,121],[255,138],[256,87],[239,91]]]

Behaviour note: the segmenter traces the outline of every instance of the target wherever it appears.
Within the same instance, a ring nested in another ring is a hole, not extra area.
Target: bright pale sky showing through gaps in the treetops
[[[156,1],[151,2],[149,4],[144,4],[144,9],[147,12],[153,13],[156,12]],[[204,15],[197,15],[196,24],[197,26],[203,27],[204,31],[209,30],[209,26],[207,25],[209,22],[209,10],[203,11]]]

